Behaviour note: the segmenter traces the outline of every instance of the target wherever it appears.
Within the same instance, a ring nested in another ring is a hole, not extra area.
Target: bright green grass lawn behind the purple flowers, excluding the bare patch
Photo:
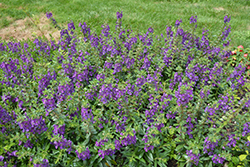
[[[192,15],[198,16],[198,34],[205,28],[211,35],[220,35],[223,18],[228,14],[232,27],[230,47],[250,47],[250,1],[247,0],[1,0],[0,29],[26,18],[24,10],[34,16],[52,12],[60,25],[71,20],[77,26],[79,22],[86,22],[98,33],[104,23],[114,30],[116,12],[122,11],[125,28],[146,32],[151,26],[155,35],[165,33],[166,25],[174,26],[177,19],[182,19],[181,27],[190,30]]]

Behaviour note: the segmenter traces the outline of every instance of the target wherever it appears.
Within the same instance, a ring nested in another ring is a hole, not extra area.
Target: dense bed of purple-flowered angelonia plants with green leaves
[[[99,36],[70,22],[58,42],[0,43],[0,166],[250,165],[246,68],[223,63],[230,17],[212,42],[197,16],[161,36],[122,17]]]

